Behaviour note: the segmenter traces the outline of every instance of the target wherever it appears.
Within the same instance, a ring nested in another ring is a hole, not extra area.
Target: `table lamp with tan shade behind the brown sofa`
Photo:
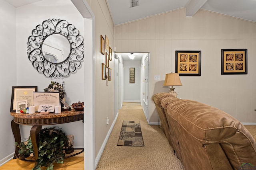
[[[178,73],[168,73],[165,74],[165,80],[164,80],[164,85],[163,86],[182,86],[182,83],[180,81],[180,76]],[[170,93],[172,96],[177,98],[178,94],[174,92],[175,88],[170,88]]]

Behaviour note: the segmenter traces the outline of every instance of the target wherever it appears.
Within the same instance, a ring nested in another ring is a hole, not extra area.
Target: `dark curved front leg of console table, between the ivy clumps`
[[[42,126],[35,125],[30,130],[30,137],[31,137],[31,142],[34,149],[35,160],[38,159],[39,132],[41,129],[42,129]],[[35,161],[35,166],[36,165],[37,165],[37,162]]]

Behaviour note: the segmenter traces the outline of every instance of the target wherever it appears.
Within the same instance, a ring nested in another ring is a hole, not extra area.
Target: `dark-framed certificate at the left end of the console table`
[[[33,106],[33,92],[37,91],[37,86],[13,86],[10,112],[16,112],[18,101],[26,100],[27,106]]]

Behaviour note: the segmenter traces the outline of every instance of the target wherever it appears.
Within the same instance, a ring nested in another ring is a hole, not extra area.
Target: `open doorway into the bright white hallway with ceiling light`
[[[115,53],[115,116],[123,102],[140,102],[148,121],[149,53]]]

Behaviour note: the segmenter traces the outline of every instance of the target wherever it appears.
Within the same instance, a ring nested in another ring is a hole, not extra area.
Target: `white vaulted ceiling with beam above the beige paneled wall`
[[[139,6],[130,8],[130,0],[106,0],[114,25],[147,18],[164,12],[186,8],[189,16],[204,9],[256,22],[256,0],[138,0]]]

